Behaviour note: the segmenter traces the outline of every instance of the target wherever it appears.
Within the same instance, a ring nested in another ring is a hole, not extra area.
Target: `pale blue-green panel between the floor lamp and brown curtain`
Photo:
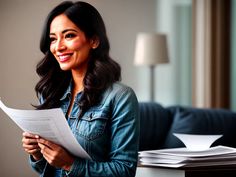
[[[170,63],[156,67],[156,101],[192,104],[191,0],[157,0],[156,31],[167,34]]]

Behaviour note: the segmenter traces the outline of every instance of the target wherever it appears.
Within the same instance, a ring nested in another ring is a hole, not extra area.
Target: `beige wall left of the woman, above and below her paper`
[[[18,108],[32,108],[30,104],[36,102],[34,70],[40,58],[38,40],[48,6],[35,2],[0,2],[0,97]],[[21,133],[0,111],[0,176],[36,176],[21,147]]]

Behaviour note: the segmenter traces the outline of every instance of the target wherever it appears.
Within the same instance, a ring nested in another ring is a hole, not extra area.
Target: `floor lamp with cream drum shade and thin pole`
[[[134,64],[150,67],[150,100],[154,101],[154,68],[161,63],[168,63],[167,39],[165,34],[139,33],[136,39]]]

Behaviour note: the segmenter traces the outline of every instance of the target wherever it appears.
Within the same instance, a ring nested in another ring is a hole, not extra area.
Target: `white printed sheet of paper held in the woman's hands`
[[[66,148],[81,158],[90,156],[74,137],[60,108],[48,110],[19,110],[8,108],[0,100],[0,108],[25,132],[37,134]]]

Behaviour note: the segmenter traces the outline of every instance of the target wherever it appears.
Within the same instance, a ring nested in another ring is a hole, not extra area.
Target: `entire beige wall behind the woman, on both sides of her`
[[[35,65],[42,57],[39,38],[47,13],[60,0],[0,1],[0,97],[11,107],[32,109],[37,103]],[[155,0],[90,0],[104,17],[111,42],[111,56],[122,67],[123,82],[138,99],[149,99],[149,70],[133,66],[137,32],[154,31]],[[21,147],[21,130],[0,111],[1,176],[33,177]]]

